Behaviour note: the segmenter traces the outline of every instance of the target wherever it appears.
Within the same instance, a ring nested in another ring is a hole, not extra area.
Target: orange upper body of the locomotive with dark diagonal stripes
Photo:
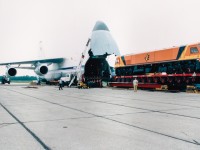
[[[118,56],[115,67],[136,66],[200,59],[200,44],[173,47],[165,50]]]

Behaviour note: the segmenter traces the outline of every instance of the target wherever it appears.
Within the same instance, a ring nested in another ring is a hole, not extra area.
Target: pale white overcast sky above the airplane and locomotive
[[[196,43],[199,14],[200,0],[0,0],[0,62],[38,59],[39,41],[46,58],[79,58],[98,20],[121,54]]]

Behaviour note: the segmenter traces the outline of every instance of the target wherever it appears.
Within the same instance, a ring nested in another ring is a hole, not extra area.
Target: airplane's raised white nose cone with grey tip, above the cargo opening
[[[118,46],[105,23],[97,21],[91,36],[91,51],[94,56],[120,55]]]

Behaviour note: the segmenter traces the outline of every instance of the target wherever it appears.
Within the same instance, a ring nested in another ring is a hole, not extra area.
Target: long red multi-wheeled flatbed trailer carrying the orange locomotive
[[[200,83],[200,73],[188,74],[147,74],[134,76],[115,76],[111,87],[132,88],[133,80],[137,78],[138,87],[142,89],[160,89],[167,86],[169,90],[185,90],[188,85]]]

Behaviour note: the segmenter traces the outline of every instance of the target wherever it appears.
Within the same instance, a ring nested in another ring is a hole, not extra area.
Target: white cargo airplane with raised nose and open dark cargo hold
[[[91,38],[86,44],[86,49],[82,53],[80,63],[77,63],[78,65],[73,66],[72,60],[69,59],[52,58],[0,63],[0,66],[6,66],[6,77],[15,76],[17,69],[31,69],[40,80],[48,82],[67,77],[69,74],[77,75],[77,71],[79,71],[82,72],[85,80],[99,81],[110,79],[112,68],[107,58],[111,55],[120,55],[117,44],[106,24],[97,21],[92,30]]]

